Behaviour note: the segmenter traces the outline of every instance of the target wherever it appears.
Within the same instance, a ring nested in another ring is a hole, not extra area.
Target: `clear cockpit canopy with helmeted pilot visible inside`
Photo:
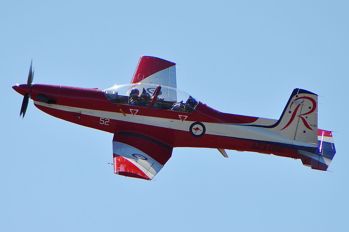
[[[116,85],[104,90],[112,103],[193,113],[198,101],[175,88],[154,84]]]

